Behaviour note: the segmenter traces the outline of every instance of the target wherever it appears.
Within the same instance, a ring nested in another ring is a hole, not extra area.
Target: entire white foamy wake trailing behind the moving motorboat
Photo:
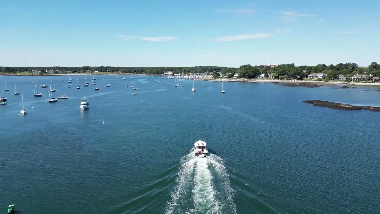
[[[213,154],[196,158],[191,152],[180,162],[176,187],[165,214],[236,214],[233,189],[222,158]]]

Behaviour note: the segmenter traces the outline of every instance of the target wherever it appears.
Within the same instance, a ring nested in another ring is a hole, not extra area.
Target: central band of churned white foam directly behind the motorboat
[[[215,199],[211,171],[208,169],[207,158],[196,158],[193,200],[195,213],[219,213],[220,204]]]

